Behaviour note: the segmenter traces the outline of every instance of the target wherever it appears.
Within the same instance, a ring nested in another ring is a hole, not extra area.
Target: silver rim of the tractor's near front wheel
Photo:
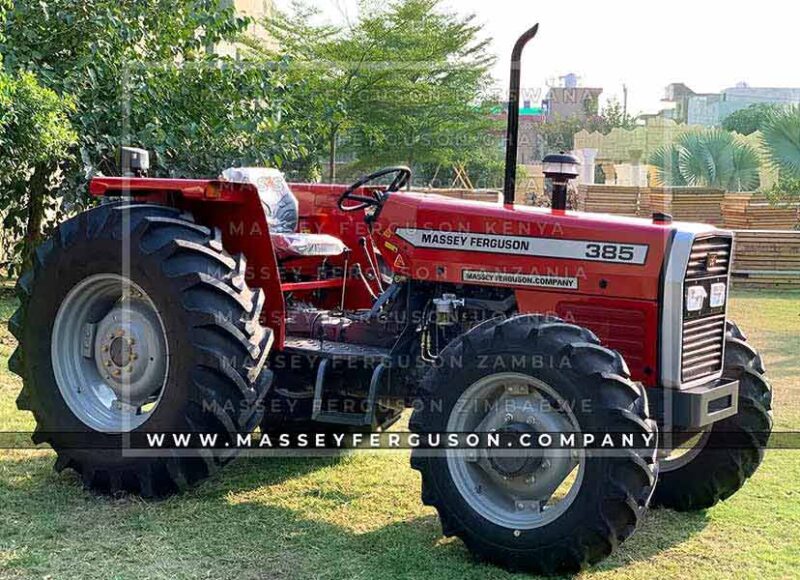
[[[575,433],[569,405],[528,375],[498,373],[471,385],[456,402],[448,432]],[[487,520],[514,530],[544,526],[569,508],[585,472],[585,454],[557,448],[516,451],[448,450],[461,496]]]

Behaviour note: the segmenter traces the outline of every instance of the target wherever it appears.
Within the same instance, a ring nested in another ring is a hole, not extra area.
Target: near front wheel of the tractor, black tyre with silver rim
[[[411,465],[422,475],[422,500],[436,508],[446,536],[460,537],[478,557],[511,570],[561,574],[598,562],[634,532],[655,485],[656,426],[644,390],[630,381],[619,354],[586,329],[523,315],[473,328],[442,352],[440,362],[421,385],[425,398],[411,418],[414,432],[475,430],[479,418],[453,418],[484,409],[489,400],[489,422],[484,419],[478,430],[491,431],[494,409],[501,402],[508,409],[511,398],[522,397],[512,412],[501,411],[505,426],[496,430],[551,432],[562,425],[652,436],[645,449],[578,452],[571,464],[557,450],[553,457],[522,458],[490,452],[488,460],[463,462],[449,451],[442,457],[414,450]],[[501,389],[496,395],[493,385]],[[525,402],[529,397],[532,405]],[[564,402],[566,410],[553,411]],[[518,417],[525,408],[533,410]],[[556,477],[554,470],[562,471]],[[558,483],[564,472],[567,485],[572,478],[569,490]],[[551,491],[556,485],[561,495]]]

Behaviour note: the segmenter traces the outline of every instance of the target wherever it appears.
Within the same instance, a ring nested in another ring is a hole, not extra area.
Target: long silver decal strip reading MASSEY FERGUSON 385
[[[644,264],[648,247],[646,244],[444,232],[415,228],[398,228],[395,233],[417,248],[541,256],[617,264]]]

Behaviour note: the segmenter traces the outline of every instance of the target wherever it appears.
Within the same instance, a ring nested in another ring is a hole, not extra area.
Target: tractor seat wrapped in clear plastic
[[[251,183],[258,189],[267,216],[270,238],[278,260],[302,257],[338,256],[347,249],[339,238],[328,234],[297,232],[297,198],[277,169],[231,167],[221,178],[235,183]]]

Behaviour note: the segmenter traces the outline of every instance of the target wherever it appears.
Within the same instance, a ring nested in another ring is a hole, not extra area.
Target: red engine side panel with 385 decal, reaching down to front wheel
[[[378,245],[397,272],[513,288],[520,312],[591,329],[624,356],[635,380],[658,384],[670,226],[420,194],[392,195],[378,221]]]

